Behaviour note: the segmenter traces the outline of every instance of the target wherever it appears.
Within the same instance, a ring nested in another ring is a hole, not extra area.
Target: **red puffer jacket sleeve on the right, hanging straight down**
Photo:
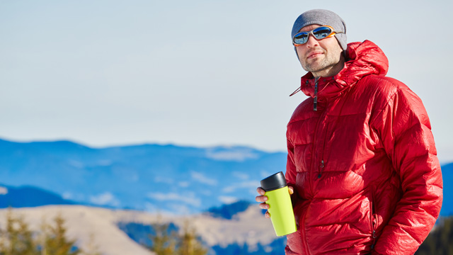
[[[378,237],[372,254],[414,254],[442,207],[442,174],[430,120],[420,98],[404,87],[372,119],[403,196]]]

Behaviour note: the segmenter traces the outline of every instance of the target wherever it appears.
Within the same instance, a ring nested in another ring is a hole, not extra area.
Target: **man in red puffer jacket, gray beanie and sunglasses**
[[[385,77],[388,60],[373,42],[347,45],[336,13],[302,13],[292,40],[309,98],[287,125],[285,176],[298,230],[286,254],[414,254],[442,206],[420,98]]]

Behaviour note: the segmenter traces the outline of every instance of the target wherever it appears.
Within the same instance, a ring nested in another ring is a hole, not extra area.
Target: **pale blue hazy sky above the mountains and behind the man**
[[[384,50],[452,162],[452,1],[0,1],[0,137],[285,151],[311,8]]]

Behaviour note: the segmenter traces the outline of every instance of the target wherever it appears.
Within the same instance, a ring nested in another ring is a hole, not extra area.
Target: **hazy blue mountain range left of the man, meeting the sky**
[[[75,203],[188,214],[253,201],[261,179],[284,171],[286,154],[250,147],[91,148],[0,140],[0,162],[0,180],[8,186],[42,188]]]

